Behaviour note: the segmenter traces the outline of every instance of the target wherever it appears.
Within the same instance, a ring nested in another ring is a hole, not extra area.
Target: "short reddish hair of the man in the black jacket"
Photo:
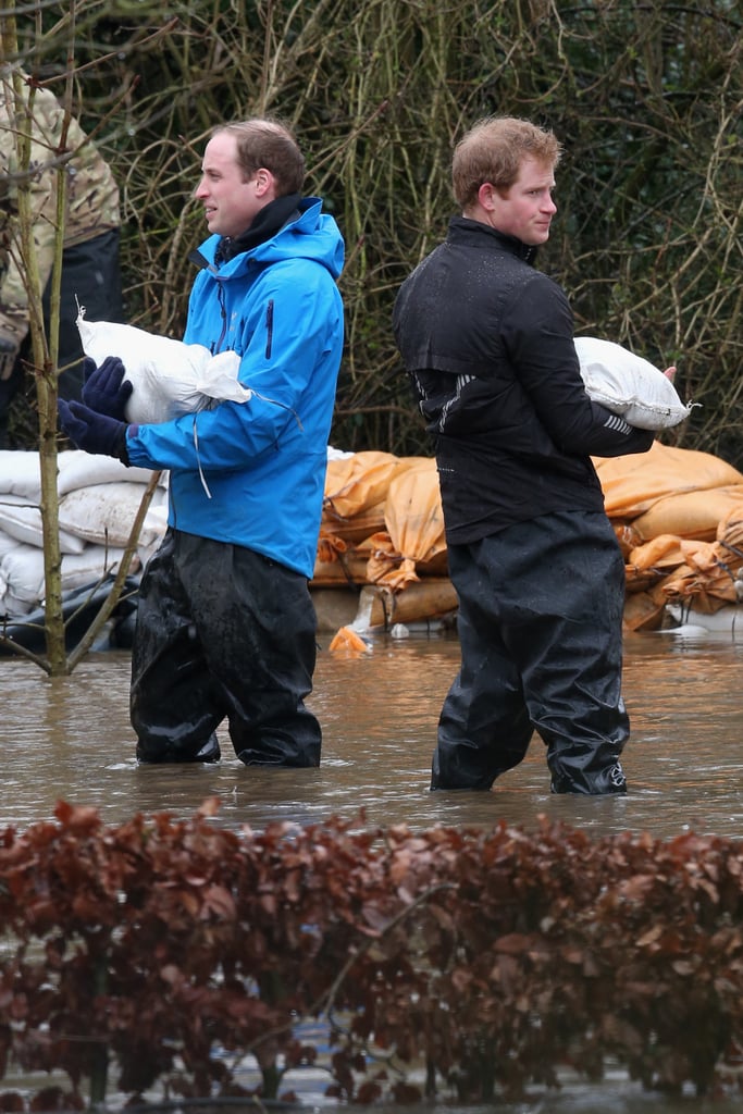
[[[553,131],[515,116],[488,116],[478,120],[454,147],[451,179],[454,198],[462,209],[477,201],[486,182],[509,189],[525,158],[557,166],[560,144]]]

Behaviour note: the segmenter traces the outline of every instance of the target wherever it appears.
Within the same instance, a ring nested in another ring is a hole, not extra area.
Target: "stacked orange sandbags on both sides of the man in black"
[[[625,624],[655,629],[668,604],[701,613],[743,596],[743,475],[706,452],[655,441],[594,461],[627,569]],[[433,460],[359,452],[331,459],[313,583],[375,585],[440,614],[447,551]]]

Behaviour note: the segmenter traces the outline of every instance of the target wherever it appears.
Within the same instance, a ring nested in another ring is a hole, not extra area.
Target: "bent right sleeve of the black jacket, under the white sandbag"
[[[563,291],[535,272],[505,314],[505,342],[521,388],[553,441],[577,456],[647,452],[655,434],[593,402],[573,343],[573,313]]]

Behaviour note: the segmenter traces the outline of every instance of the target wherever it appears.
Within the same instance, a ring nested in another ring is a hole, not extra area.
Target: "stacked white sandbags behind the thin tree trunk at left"
[[[62,593],[116,573],[151,473],[108,457],[58,457]],[[139,535],[136,565],[165,532],[167,489],[158,485]],[[41,479],[37,452],[0,452],[0,616],[14,619],[45,596]]]

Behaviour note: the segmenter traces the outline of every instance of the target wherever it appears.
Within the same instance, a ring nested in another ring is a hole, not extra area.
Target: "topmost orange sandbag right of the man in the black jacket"
[[[648,452],[594,459],[609,518],[636,519],[680,491],[743,485],[743,473],[710,452],[654,441]],[[634,522],[633,522],[634,525]]]

